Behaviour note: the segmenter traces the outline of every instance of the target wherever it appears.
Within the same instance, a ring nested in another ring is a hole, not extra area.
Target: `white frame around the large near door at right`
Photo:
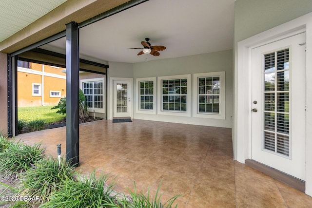
[[[234,159],[251,159],[251,51],[253,48],[306,32],[306,57],[312,57],[312,13],[237,43],[234,98]],[[306,59],[306,80],[312,80],[312,63]],[[306,85],[306,135],[312,135],[312,82]],[[312,138],[306,136],[306,194],[312,196]]]

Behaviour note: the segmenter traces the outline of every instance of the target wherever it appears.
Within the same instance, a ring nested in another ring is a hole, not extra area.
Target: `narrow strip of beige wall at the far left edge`
[[[7,54],[0,53],[0,134],[8,133]]]

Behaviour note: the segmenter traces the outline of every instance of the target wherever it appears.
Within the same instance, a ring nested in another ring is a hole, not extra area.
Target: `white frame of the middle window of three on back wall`
[[[162,80],[166,79],[186,79],[186,112],[182,111],[163,111],[163,96],[162,96]],[[163,115],[176,115],[176,116],[186,116],[191,117],[191,74],[187,75],[175,75],[175,76],[158,76],[157,79],[157,112]]]

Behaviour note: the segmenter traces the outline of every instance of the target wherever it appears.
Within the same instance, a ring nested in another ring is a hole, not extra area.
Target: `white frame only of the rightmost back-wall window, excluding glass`
[[[201,77],[220,77],[219,113],[199,113],[199,82]],[[197,73],[193,75],[193,116],[199,118],[225,119],[225,71]]]

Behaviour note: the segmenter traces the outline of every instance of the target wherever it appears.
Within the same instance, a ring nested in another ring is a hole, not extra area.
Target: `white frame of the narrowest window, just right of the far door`
[[[153,110],[150,109],[141,109],[140,103],[140,82],[142,81],[153,81]],[[137,87],[136,87],[136,94],[137,94],[137,104],[136,104],[136,113],[146,113],[146,114],[156,114],[156,77],[144,77],[144,78],[137,78],[136,79]]]

